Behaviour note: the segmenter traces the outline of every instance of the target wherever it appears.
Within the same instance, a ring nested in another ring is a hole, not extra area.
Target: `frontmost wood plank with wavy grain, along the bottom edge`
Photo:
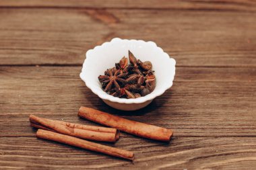
[[[0,168],[13,169],[253,169],[256,138],[174,137],[170,144],[121,136],[115,144],[135,152],[125,161],[57,142],[0,138]],[[15,160],[15,161],[14,161]]]

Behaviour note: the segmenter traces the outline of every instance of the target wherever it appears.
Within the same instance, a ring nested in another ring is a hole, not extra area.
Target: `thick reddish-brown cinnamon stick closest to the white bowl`
[[[78,116],[143,138],[169,141],[172,136],[172,130],[170,129],[127,120],[92,108],[81,107]]]

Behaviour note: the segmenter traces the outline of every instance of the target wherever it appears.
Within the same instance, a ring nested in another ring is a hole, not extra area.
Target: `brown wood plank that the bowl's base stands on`
[[[28,136],[30,112],[84,122],[81,105],[172,128],[175,136],[255,136],[254,68],[178,67],[173,87],[137,112],[108,107],[85,87],[80,70],[0,67],[0,136]]]

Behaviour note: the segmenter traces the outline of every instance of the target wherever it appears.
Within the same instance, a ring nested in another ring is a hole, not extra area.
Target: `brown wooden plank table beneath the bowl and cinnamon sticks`
[[[152,40],[177,60],[171,89],[137,112],[79,79],[85,52],[114,37]],[[255,169],[255,1],[0,2],[0,169]],[[172,128],[169,144],[122,133],[125,161],[39,140],[30,113],[77,118],[81,105]]]

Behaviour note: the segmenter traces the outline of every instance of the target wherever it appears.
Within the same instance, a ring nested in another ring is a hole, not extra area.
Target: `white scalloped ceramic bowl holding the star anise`
[[[123,56],[128,57],[128,50],[131,50],[137,59],[152,62],[152,69],[156,76],[156,88],[144,97],[136,99],[113,97],[102,90],[98,81],[98,76],[104,75],[106,69],[115,67],[115,63],[119,62]],[[139,110],[172,86],[175,64],[175,60],[154,42],[113,38],[110,42],[104,42],[101,46],[96,46],[86,52],[86,60],[80,77],[93,93],[111,107],[118,110]]]

